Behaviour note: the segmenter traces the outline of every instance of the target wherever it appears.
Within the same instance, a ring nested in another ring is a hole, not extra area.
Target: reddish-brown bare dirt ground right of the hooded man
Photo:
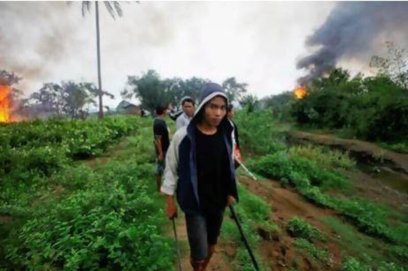
[[[261,196],[271,206],[273,213],[270,220],[275,222],[282,231],[265,236],[261,242],[263,260],[273,270],[287,270],[293,267],[294,262],[298,270],[335,270],[341,265],[341,248],[335,240],[336,234],[326,224],[320,221],[321,217],[337,217],[333,210],[319,208],[301,198],[297,193],[282,188],[275,180],[253,181],[246,176],[238,176],[240,183],[250,192]],[[331,254],[329,265],[321,265],[308,255],[297,251],[292,245],[293,238],[286,232],[286,223],[294,216],[302,217],[317,227],[327,236],[327,242],[317,243]],[[261,230],[262,231],[262,230]]]

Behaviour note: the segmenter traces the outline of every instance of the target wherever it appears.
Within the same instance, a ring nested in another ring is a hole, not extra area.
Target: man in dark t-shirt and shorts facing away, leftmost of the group
[[[161,180],[164,171],[164,158],[166,157],[167,149],[170,145],[169,131],[167,129],[164,118],[166,116],[167,107],[159,105],[156,107],[156,118],[153,123],[153,135],[155,137],[155,148],[157,155],[157,168],[156,168],[156,183],[160,192]]]

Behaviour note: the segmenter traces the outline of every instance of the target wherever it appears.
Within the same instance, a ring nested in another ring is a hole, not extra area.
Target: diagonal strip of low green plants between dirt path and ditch
[[[286,179],[299,194],[309,201],[337,210],[359,230],[389,243],[408,244],[408,228],[399,223],[391,225],[388,208],[363,198],[329,196],[328,188],[346,189],[348,179],[337,172],[328,171],[317,163],[303,158],[277,152],[252,160],[248,166],[266,177]]]

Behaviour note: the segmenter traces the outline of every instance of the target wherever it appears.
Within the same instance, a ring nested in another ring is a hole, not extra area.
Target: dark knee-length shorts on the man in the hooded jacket
[[[217,244],[223,217],[224,210],[218,214],[186,214],[188,242],[193,260],[204,260],[207,257],[208,246]]]

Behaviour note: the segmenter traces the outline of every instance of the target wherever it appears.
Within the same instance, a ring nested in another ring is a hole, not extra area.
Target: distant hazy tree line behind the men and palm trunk
[[[21,80],[14,72],[0,71],[0,81],[12,87],[13,100],[19,101],[19,107],[35,106],[43,112],[56,116],[69,116],[83,118],[88,114],[88,107],[98,105],[99,89],[91,82],[75,82],[73,80],[62,82],[46,82],[38,91],[28,97],[22,97],[22,92],[16,85]],[[126,86],[120,93],[122,99],[137,98],[140,107],[151,113],[160,104],[172,104],[180,109],[181,99],[190,96],[198,100],[203,86],[210,80],[200,77],[182,79],[180,77],[162,78],[155,70],[148,70],[141,76],[129,75]],[[222,82],[230,102],[241,105],[251,104],[257,100],[255,96],[247,94],[247,83],[238,82],[235,77],[228,77]],[[107,91],[102,91],[103,97],[114,99],[115,96]],[[110,108],[105,107],[106,110]]]

